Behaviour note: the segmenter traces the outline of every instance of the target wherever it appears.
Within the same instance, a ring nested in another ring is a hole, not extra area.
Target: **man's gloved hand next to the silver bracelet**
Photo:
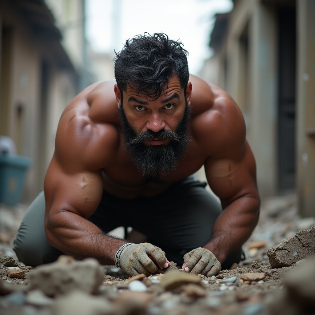
[[[119,264],[130,276],[144,273],[149,276],[157,271],[157,266],[167,268],[170,263],[165,252],[150,243],[131,244],[126,246],[119,257]]]

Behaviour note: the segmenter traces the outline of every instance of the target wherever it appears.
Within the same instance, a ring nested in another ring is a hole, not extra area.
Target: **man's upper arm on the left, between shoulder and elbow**
[[[101,172],[79,166],[67,172],[54,156],[45,177],[44,191],[46,214],[51,216],[66,210],[88,218],[102,197]]]

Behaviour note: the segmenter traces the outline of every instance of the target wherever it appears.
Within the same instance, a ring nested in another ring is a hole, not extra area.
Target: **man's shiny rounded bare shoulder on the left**
[[[119,144],[119,120],[109,86],[114,84],[107,81],[89,86],[61,115],[55,153],[64,163],[79,161],[102,168],[110,152],[115,152]]]

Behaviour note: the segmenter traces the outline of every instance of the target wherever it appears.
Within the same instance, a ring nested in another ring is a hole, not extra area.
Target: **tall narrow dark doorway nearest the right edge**
[[[295,8],[279,8],[278,188],[295,187]]]

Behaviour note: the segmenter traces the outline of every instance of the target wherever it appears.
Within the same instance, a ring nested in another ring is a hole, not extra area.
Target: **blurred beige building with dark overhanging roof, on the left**
[[[31,157],[24,200],[43,189],[60,115],[89,84],[84,0],[1,0],[0,135]]]

